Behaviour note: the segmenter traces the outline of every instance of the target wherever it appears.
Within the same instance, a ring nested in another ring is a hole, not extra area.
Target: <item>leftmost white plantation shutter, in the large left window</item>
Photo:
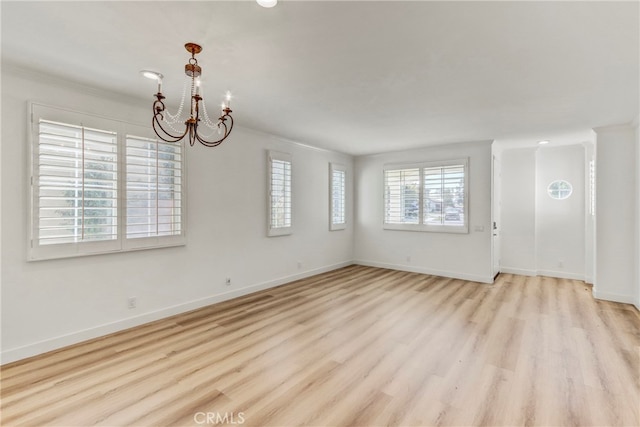
[[[115,132],[40,119],[35,163],[38,245],[117,239]]]

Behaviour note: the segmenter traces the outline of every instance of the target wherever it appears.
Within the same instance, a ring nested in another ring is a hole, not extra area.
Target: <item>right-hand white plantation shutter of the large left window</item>
[[[182,233],[182,145],[126,137],[126,237]]]

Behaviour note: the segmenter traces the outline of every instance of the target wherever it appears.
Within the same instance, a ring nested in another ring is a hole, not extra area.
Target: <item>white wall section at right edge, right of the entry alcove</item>
[[[595,129],[596,298],[634,303],[636,256],[636,135],[631,126]]]

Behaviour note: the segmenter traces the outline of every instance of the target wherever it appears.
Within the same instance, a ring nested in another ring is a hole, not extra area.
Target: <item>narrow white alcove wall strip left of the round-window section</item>
[[[536,275],[536,149],[501,153],[501,262],[505,273]]]

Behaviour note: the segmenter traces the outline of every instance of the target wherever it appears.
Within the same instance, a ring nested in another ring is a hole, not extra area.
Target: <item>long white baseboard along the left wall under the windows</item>
[[[189,301],[182,304],[176,304],[170,307],[165,307],[160,310],[143,313],[138,316],[128,317],[126,319],[117,320],[110,323],[105,323],[92,328],[82,329],[69,334],[60,335],[46,340],[27,344],[25,346],[3,349],[0,353],[0,364],[6,364],[15,362],[17,360],[25,359],[27,357],[36,356],[48,351],[57,350],[62,347],[67,347],[73,344],[78,344],[83,341],[87,341],[93,338],[98,338],[104,335],[108,335],[114,332],[129,329],[135,326],[140,326],[145,323],[153,322],[155,320],[170,317],[176,314],[185,313],[187,311],[195,310],[198,308],[206,307],[218,302],[227,301],[233,298],[237,298],[243,295],[247,295],[253,292],[261,291],[264,289],[273,288],[275,286],[283,285],[285,283],[293,282],[295,280],[304,279],[306,277],[314,276],[320,273],[326,273],[328,271],[337,270],[338,268],[347,267],[352,265],[353,262],[345,261],[338,264],[328,265],[325,267],[308,270],[305,272],[292,274],[290,276],[281,277],[275,280],[269,280],[262,283],[246,286],[240,289],[234,289],[229,292],[212,295],[209,297]]]

